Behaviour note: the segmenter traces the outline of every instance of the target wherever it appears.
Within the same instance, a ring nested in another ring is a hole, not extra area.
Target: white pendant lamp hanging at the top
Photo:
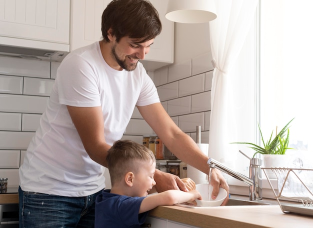
[[[203,23],[216,18],[211,0],[168,0],[165,17],[180,23]]]

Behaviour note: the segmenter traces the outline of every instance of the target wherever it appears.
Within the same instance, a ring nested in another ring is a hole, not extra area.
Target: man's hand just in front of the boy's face
[[[180,189],[182,191],[188,191],[186,184],[179,178],[179,176],[162,172],[155,169],[154,180],[156,182],[155,189],[157,192],[166,191],[169,189]]]

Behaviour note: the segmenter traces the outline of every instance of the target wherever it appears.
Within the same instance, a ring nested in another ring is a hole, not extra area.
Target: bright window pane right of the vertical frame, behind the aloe
[[[312,7],[311,0],[260,0],[262,133],[268,138],[295,117],[289,146],[299,150],[313,150]]]

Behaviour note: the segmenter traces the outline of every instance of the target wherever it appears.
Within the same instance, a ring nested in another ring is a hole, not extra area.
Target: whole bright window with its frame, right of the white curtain
[[[299,150],[303,150],[305,157],[312,158],[305,160],[310,168],[313,165],[311,8],[311,0],[259,0],[255,22],[234,69],[240,82],[235,85],[238,88],[235,93],[241,93],[241,100],[246,100],[239,102],[241,117],[235,118],[241,124],[238,141],[260,144],[257,122],[266,140],[272,130],[275,134],[276,126],[280,130],[295,117],[290,124],[289,147],[296,150],[288,152],[301,156]],[[253,155],[254,150],[245,145],[237,147]],[[236,171],[248,176],[248,165],[247,158],[236,154]],[[227,181],[230,185],[242,185],[232,177]],[[263,183],[266,185],[267,180]]]

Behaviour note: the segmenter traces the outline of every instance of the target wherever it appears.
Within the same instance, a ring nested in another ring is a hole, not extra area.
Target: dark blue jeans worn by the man
[[[95,197],[67,197],[18,188],[19,228],[94,227]]]

